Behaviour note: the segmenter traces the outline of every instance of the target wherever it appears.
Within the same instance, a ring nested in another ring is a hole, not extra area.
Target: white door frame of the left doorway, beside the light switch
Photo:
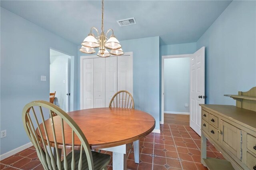
[[[74,111],[74,85],[75,85],[75,79],[74,79],[74,73],[75,73],[74,63],[75,62],[74,62],[74,59],[75,59],[75,57],[74,57],[74,55],[70,55],[66,52],[60,51],[58,49],[54,49],[52,47],[50,47],[50,49],[52,49],[54,51],[58,51],[60,53],[63,53],[64,55],[68,55],[70,58],[70,77],[69,77],[68,81],[70,81],[70,94],[71,95],[70,95],[70,106],[69,107],[70,107],[70,111]],[[49,49],[49,59],[50,59],[50,49]],[[49,67],[50,67],[50,65],[49,65]],[[50,70],[50,68],[49,68],[49,70]],[[49,79],[50,79],[50,73],[49,73]],[[50,80],[49,80],[49,89],[50,89]]]

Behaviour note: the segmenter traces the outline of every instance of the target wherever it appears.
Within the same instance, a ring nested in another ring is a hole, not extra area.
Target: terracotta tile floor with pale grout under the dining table
[[[133,148],[127,152],[129,170],[204,170],[200,163],[200,136],[189,126],[164,124],[161,133],[150,133],[140,140],[140,164],[134,163]],[[112,154],[112,152],[105,152]],[[207,141],[207,156],[224,159]],[[42,170],[34,147],[27,148],[0,162],[4,170]],[[112,161],[108,165],[112,170]]]

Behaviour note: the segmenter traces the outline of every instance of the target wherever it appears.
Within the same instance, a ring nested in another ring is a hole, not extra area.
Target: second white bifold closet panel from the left
[[[94,107],[105,107],[105,58],[94,58]]]

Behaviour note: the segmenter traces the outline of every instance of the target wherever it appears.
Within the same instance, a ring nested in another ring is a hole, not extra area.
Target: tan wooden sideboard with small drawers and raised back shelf
[[[201,162],[208,169],[256,170],[256,97],[253,95],[256,96],[256,87],[238,95],[226,95],[237,100],[236,106],[200,104]],[[206,138],[226,160],[206,157]]]

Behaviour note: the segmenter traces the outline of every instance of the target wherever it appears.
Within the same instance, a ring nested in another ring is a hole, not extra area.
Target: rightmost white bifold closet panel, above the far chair
[[[131,56],[117,57],[117,90],[126,90],[133,95]]]

